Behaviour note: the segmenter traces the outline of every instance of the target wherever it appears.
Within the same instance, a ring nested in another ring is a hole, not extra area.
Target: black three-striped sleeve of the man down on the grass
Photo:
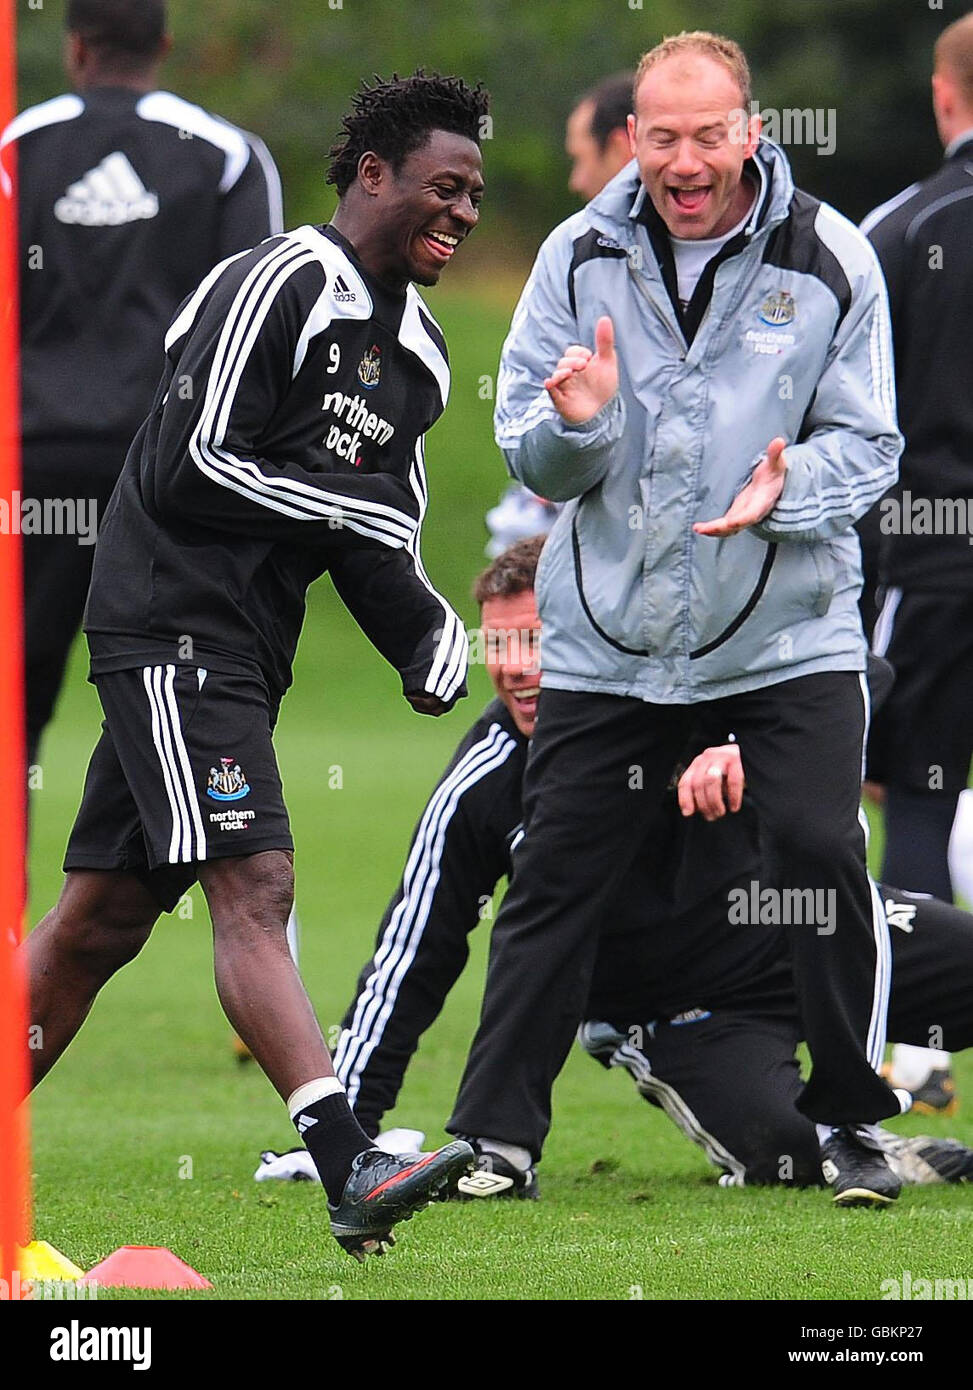
[[[335,1072],[360,1123],[378,1129],[395,1105],[418,1040],[468,959],[468,934],[506,872],[491,812],[516,741],[499,726],[453,759],[416,827],[399,888],[345,1016]],[[510,763],[510,766],[509,766]]]

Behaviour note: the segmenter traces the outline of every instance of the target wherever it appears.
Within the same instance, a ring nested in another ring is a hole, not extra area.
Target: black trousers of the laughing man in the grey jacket
[[[739,741],[767,837],[760,890],[776,891],[787,924],[813,1061],[801,1111],[827,1125],[899,1112],[877,1074],[891,948],[859,819],[865,678],[828,671],[703,706],[542,692],[524,780],[525,834],[493,926],[450,1133],[489,1136],[541,1156],[552,1086],[588,999],[599,923],[701,717]],[[801,916],[801,892],[821,910],[790,922]]]

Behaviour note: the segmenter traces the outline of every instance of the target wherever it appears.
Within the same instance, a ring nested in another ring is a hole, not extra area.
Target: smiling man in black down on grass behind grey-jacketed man
[[[345,1015],[335,1069],[373,1136],[466,966],[468,934],[492,916],[493,890],[512,872],[541,682],[534,573],[542,545],[542,537],[516,542],[477,580],[496,699],[427,802]],[[873,696],[884,684],[880,667]],[[714,763],[719,778],[710,776]],[[739,751],[728,745],[692,760],[680,805],[670,792],[651,830],[656,853],[635,860],[605,922],[580,1037],[606,1066],[627,1069],[731,1186],[813,1184],[821,1182],[821,1155],[815,1126],[796,1109],[801,1024],[788,929],[752,912],[762,853],[742,791]],[[739,815],[727,817],[727,809]],[[653,862],[664,865],[662,876]],[[973,979],[973,917],[895,888],[880,892],[897,929],[890,1037],[924,1042],[937,1029],[945,1045],[972,1047],[973,998],[956,981]],[[739,905],[735,919],[728,902]],[[905,1182],[973,1177],[973,1154],[952,1140],[897,1140],[876,1130],[870,1141],[883,1144]],[[513,1183],[518,1195],[537,1193],[527,1155],[510,1145],[486,1141],[478,1166],[500,1179],[500,1190]],[[300,1172],[300,1158],[268,1152],[259,1176]]]

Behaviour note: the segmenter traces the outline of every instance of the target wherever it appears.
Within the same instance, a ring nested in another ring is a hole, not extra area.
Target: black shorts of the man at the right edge
[[[959,795],[973,756],[973,594],[890,589],[873,642],[895,684],[872,723],[867,776]]]

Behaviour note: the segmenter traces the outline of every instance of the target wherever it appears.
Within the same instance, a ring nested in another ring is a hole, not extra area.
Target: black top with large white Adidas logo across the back
[[[171,92],[95,88],[22,111],[17,165],[25,441],[113,439],[117,473],[163,367],[163,335],[227,256],[282,231],[254,136]]]

